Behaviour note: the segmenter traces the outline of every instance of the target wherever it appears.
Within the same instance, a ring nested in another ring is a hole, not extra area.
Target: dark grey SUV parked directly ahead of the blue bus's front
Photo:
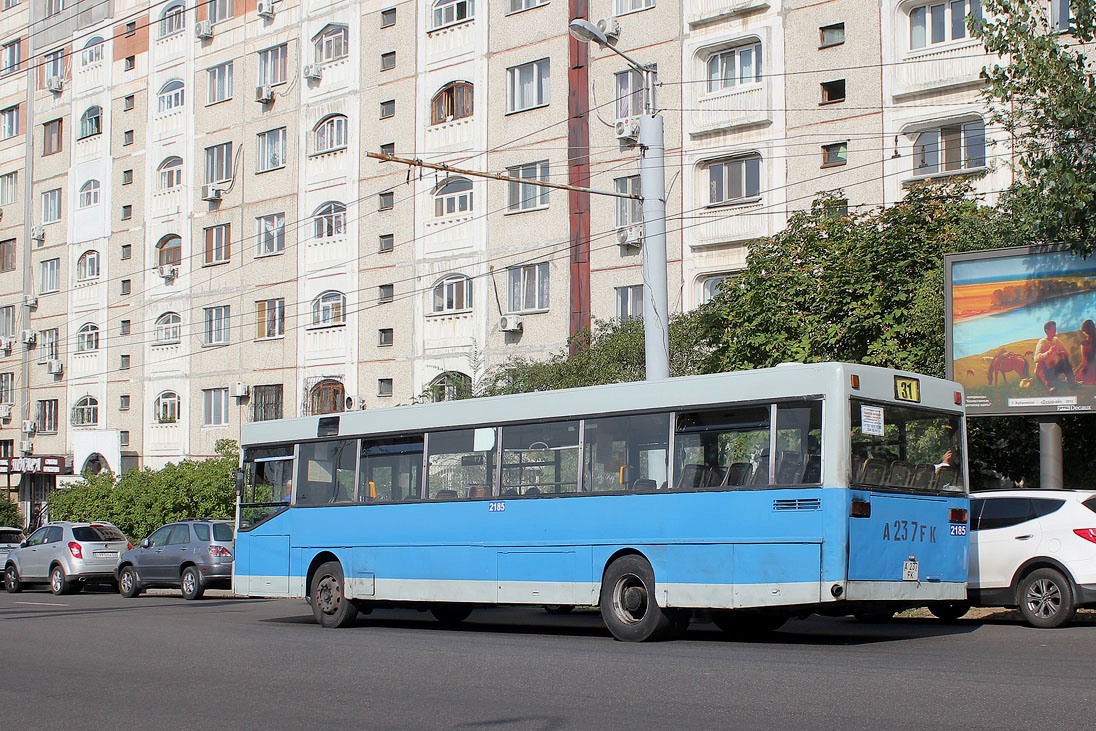
[[[196,599],[206,589],[232,585],[232,523],[181,521],[157,528],[140,546],[122,555],[118,592],[132,598],[146,589],[183,590]]]

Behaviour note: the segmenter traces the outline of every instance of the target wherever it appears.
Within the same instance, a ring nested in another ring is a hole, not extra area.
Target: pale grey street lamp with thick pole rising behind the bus
[[[665,133],[654,108],[654,65],[640,64],[609,42],[597,25],[575,18],[568,30],[575,41],[596,43],[643,75],[643,114],[639,117],[639,196],[643,203],[643,350],[647,380],[670,377],[670,305],[666,294]]]

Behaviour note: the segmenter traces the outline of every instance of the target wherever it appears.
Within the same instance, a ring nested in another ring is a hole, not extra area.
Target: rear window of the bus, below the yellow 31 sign
[[[853,399],[850,415],[850,484],[966,491],[959,414]]]

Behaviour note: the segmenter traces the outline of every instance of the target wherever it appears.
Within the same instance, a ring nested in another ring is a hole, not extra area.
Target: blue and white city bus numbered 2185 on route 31
[[[635,641],[964,602],[962,400],[788,364],[246,424],[233,590],[323,627],[598,605]]]

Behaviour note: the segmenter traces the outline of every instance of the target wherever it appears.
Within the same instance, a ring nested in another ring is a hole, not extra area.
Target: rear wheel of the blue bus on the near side
[[[641,556],[624,556],[605,570],[601,609],[605,626],[621,642],[660,640],[674,628],[674,614],[655,597],[654,570]]]

